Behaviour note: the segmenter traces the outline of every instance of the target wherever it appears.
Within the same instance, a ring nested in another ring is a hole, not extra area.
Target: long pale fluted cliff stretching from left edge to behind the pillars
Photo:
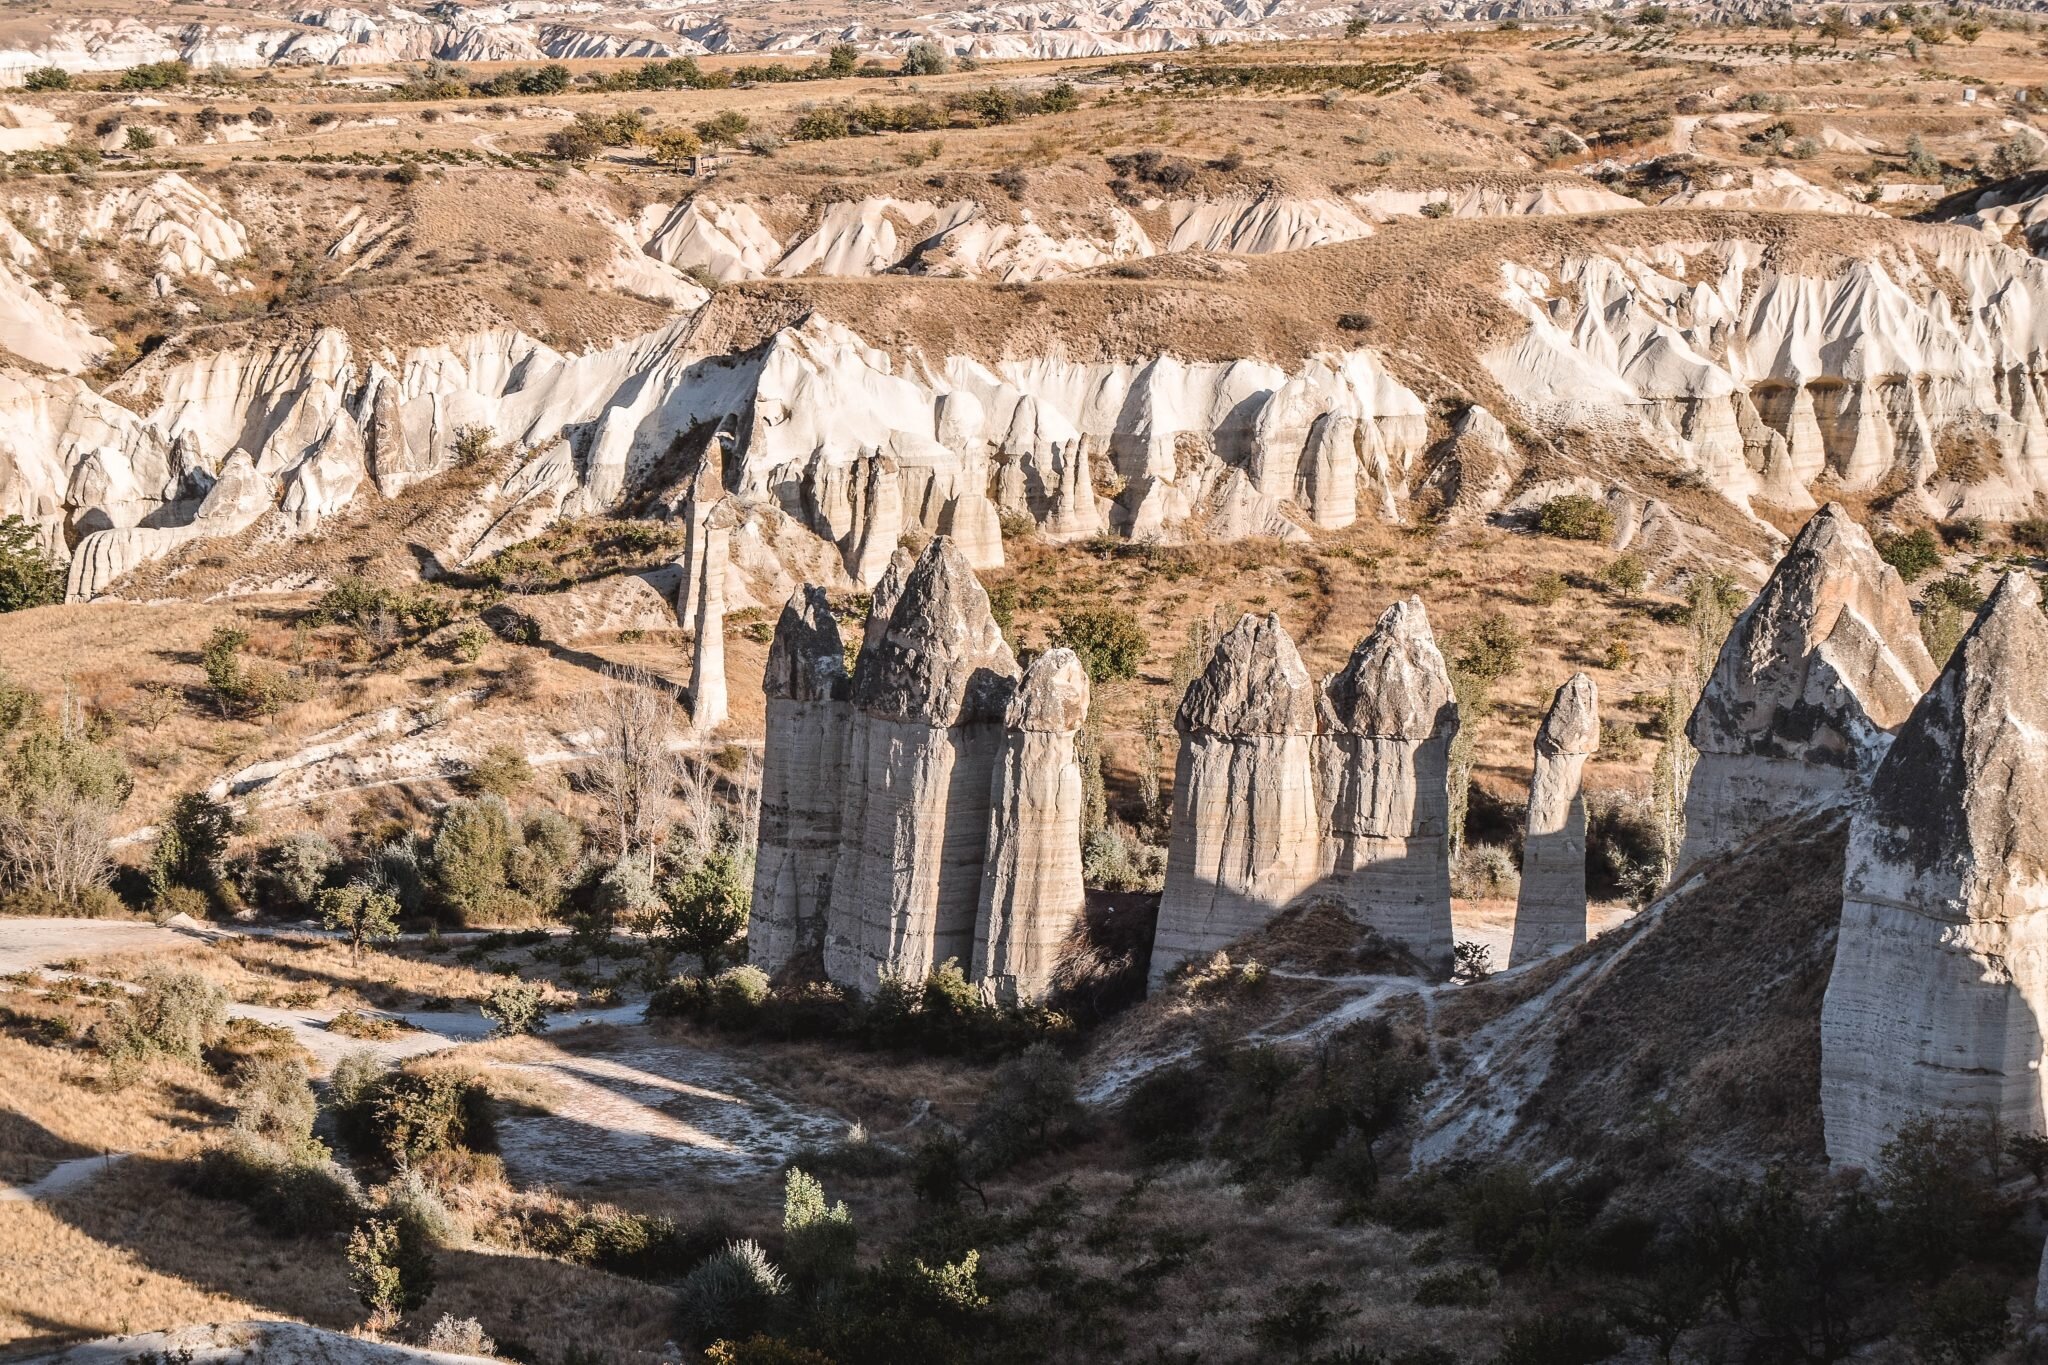
[[[12,463],[0,495],[70,536],[186,526],[195,495],[170,473],[172,448],[203,469],[246,450],[281,483],[279,534],[305,534],[371,489],[449,469],[465,432],[485,430],[530,458],[436,548],[453,567],[555,516],[614,508],[694,432],[731,448],[735,559],[786,593],[803,573],[766,548],[786,526],[827,542],[840,573],[866,585],[913,528],[999,565],[1004,510],[1055,538],[1176,538],[1192,524],[1214,538],[1300,536],[1288,508],[1341,526],[1360,491],[1393,516],[1427,430],[1421,401],[1366,350],[1313,356],[1292,375],[1171,356],[991,368],[963,356],[901,366],[817,317],[748,352],[700,354],[692,336],[694,319],[678,319],[578,356],[516,332],[365,356],[326,329],[152,356],[113,389],[141,415],[70,381],[20,379],[16,401],[0,401]],[[1096,471],[1122,479],[1118,499],[1098,493]],[[78,555],[96,565],[74,573],[80,596],[111,581],[98,567],[150,557],[141,542]]]

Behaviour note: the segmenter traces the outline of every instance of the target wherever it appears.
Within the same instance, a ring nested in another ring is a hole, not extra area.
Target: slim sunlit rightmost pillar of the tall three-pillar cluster
[[[993,1001],[1042,997],[1061,943],[1087,909],[1081,763],[1073,749],[1085,720],[1081,659],[1071,649],[1032,659],[1004,716],[1004,747],[989,788],[971,970]]]

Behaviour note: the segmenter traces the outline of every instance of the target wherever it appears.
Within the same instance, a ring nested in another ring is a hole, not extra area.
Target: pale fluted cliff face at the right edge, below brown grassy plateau
[[[1554,278],[1507,262],[1503,299],[1530,329],[1485,364],[1532,424],[1642,436],[1739,505],[1810,508],[1827,477],[2009,520],[2048,491],[2048,264],[2017,252],[1937,231],[1794,270],[1749,241],[1616,248]]]

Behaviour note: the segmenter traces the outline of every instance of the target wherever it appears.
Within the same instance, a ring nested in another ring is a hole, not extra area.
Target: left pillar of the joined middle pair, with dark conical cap
[[[1315,686],[1278,616],[1243,616],[1217,641],[1174,726],[1153,984],[1262,927],[1319,870]]]

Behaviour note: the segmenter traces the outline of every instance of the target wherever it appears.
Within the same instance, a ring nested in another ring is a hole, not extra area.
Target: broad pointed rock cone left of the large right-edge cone
[[[1898,573],[1829,503],[1735,618],[1686,726],[1679,870],[1866,784],[1933,675]]]

